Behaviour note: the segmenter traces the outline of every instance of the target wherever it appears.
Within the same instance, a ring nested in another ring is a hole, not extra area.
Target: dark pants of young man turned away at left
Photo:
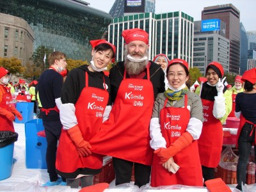
[[[56,151],[57,151],[57,143],[60,139],[61,127],[62,124],[60,120],[56,121],[43,121],[45,136],[47,141],[47,149],[46,149],[46,164],[47,164],[47,172],[49,173],[49,177],[51,181],[56,181],[58,179],[58,174],[56,173]],[[62,178],[65,182],[65,178]]]

